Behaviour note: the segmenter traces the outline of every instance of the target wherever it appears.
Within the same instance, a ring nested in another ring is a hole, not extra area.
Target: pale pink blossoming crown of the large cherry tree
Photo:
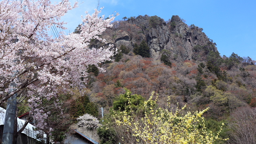
[[[46,101],[54,100],[57,106],[58,93],[85,88],[88,65],[104,71],[98,64],[115,53],[112,45],[99,37],[112,26],[115,16],[105,19],[99,16],[101,10],[81,16],[79,34],[49,34],[51,26],[65,29],[60,18],[76,7],[78,4],[71,6],[69,0],[0,1],[0,104],[14,94],[28,98],[38,128],[47,127],[44,119],[50,112],[45,109]],[[92,39],[105,47],[93,48]]]

